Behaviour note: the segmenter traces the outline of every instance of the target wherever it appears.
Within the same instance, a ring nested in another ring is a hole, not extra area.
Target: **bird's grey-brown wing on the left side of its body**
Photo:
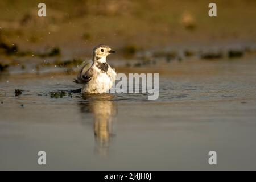
[[[90,81],[93,76],[93,67],[91,66],[88,68],[88,64],[85,64],[79,71],[77,78],[74,80],[77,84],[85,84],[86,82]]]

